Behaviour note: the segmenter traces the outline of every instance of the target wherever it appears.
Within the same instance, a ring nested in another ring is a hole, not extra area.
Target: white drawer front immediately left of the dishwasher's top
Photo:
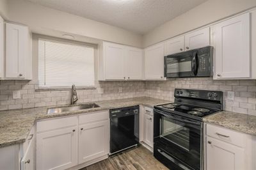
[[[109,119],[109,111],[91,112],[79,116],[79,124],[102,121]]]

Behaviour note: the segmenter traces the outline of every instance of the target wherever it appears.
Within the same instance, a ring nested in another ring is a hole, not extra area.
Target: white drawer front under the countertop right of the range
[[[228,128],[207,124],[206,134],[230,144],[234,144],[241,147],[245,146],[245,134],[235,132],[234,130],[230,130]]]

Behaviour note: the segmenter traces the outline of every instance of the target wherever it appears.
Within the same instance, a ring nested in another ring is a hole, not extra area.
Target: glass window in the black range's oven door
[[[161,137],[189,151],[189,128],[184,127],[184,123],[172,122],[163,117],[162,127],[163,133]]]

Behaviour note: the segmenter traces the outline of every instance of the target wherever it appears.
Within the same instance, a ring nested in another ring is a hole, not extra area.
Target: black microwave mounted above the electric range
[[[213,47],[164,56],[164,77],[211,77]]]

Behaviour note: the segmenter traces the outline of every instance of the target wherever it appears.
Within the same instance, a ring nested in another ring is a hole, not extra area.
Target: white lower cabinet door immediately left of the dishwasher
[[[79,126],[79,164],[109,153],[109,121]]]

